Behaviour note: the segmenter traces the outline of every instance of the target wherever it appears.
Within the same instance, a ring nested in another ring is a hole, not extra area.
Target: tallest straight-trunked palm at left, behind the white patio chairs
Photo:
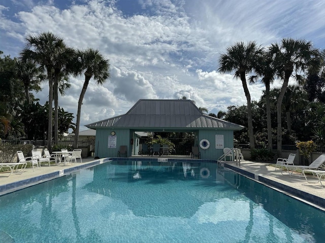
[[[51,32],[43,32],[39,35],[30,34],[26,37],[24,50],[20,53],[23,59],[35,60],[47,71],[49,81],[49,103],[48,103],[48,130],[47,148],[51,151],[52,145],[52,101],[53,101],[53,77],[57,55],[61,49],[66,48],[63,39]]]

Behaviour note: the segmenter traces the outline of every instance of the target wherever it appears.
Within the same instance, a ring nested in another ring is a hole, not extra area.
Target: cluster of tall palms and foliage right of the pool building
[[[272,149],[272,130],[275,128],[272,119],[276,117],[276,141],[277,153],[281,154],[283,142],[283,129],[282,129],[282,112],[283,109],[287,116],[287,131],[291,134],[291,117],[290,114],[293,106],[307,108],[305,110],[310,116],[303,115],[299,118],[300,129],[304,129],[308,123],[315,123],[313,115],[314,109],[320,110],[319,117],[313,127],[313,136],[316,137],[319,144],[324,141],[324,101],[325,101],[325,74],[324,74],[324,50],[320,52],[314,48],[312,43],[301,39],[284,38],[280,43],[271,44],[269,47],[258,46],[256,42],[243,43],[238,42],[226,49],[224,54],[220,55],[218,71],[221,73],[234,73],[234,76],[240,78],[244,93],[247,99],[247,106],[245,108],[245,117],[247,120],[247,133],[249,138],[250,148],[255,148],[254,122],[258,119],[259,114],[255,113],[253,116],[254,102],[251,102],[250,93],[247,83],[262,82],[265,84],[266,90],[264,92],[263,101],[266,113],[267,123],[267,144],[268,148]],[[289,78],[297,80],[298,86],[296,88],[288,89]],[[280,79],[282,86],[278,90],[270,91],[270,85],[275,79]],[[309,102],[308,106],[304,106],[304,102],[299,97],[299,91],[306,95]],[[273,102],[273,104],[271,103]],[[297,101],[301,101],[299,103]],[[275,105],[274,105],[275,102]],[[272,104],[272,105],[271,105]],[[229,107],[229,112],[233,107]],[[276,113],[274,112],[276,110]],[[298,108],[296,110],[298,112]],[[240,115],[240,114],[239,114]],[[229,116],[225,116],[229,119]],[[262,117],[260,117],[262,118]],[[296,121],[296,120],[295,120]],[[242,124],[236,122],[237,124]],[[265,127],[265,126],[263,126]],[[297,128],[299,130],[299,128]],[[308,133],[311,135],[311,132]],[[306,138],[306,137],[305,137]]]

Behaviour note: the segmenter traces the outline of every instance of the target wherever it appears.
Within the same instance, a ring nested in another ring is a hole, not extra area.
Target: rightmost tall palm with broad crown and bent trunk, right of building
[[[281,43],[272,44],[270,52],[274,57],[277,75],[283,80],[281,91],[277,100],[277,153],[281,156],[282,148],[282,119],[281,107],[289,78],[294,75],[300,79],[300,72],[305,71],[315,57],[319,56],[319,51],[313,48],[312,43],[305,40],[295,40],[284,38]]]

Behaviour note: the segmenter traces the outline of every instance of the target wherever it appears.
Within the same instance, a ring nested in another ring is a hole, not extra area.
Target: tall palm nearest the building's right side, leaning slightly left
[[[235,77],[242,81],[244,93],[247,99],[247,116],[248,116],[248,135],[250,148],[255,148],[252,110],[250,94],[246,82],[246,74],[250,73],[257,59],[262,55],[263,48],[257,46],[255,42],[247,44],[238,42],[235,45],[227,48],[226,53],[219,58],[218,71],[222,73],[235,71]]]

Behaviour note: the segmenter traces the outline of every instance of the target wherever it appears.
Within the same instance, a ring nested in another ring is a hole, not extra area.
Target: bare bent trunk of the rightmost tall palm
[[[278,127],[277,127],[277,153],[278,153],[278,157],[281,157],[281,153],[282,153],[281,107],[282,107],[282,101],[283,101],[283,97],[284,97],[284,94],[285,94],[285,91],[286,91],[286,87],[288,86],[288,83],[289,83],[290,75],[285,74],[285,77],[283,79],[283,84],[282,84],[282,87],[281,87],[281,91],[280,91],[280,94],[279,94],[279,98],[278,98],[278,101],[276,103],[277,123],[278,123]]]

